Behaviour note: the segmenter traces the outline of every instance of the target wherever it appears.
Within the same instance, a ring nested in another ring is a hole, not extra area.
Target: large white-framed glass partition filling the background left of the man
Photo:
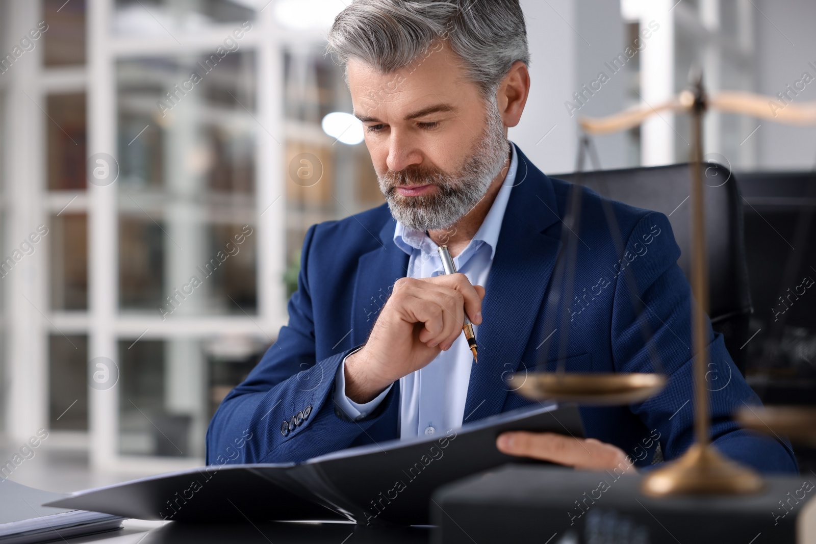
[[[8,421],[42,420],[55,444],[87,439],[91,463],[106,470],[144,468],[150,457],[167,470],[197,464],[215,409],[286,321],[282,285],[294,290],[309,226],[383,202],[365,146],[322,130],[327,114],[352,112],[342,70],[319,33],[280,20],[298,2],[260,14],[265,2],[255,0],[32,1],[15,10],[0,2],[0,27],[11,25],[8,13],[15,28],[48,25],[42,55],[20,60],[42,65],[3,74],[0,100],[13,77],[42,89],[11,97],[30,108],[25,122],[42,127],[42,141],[6,130],[22,136],[0,141],[0,152],[16,150],[0,174],[27,180],[11,197],[24,206],[17,216],[42,217],[49,229],[47,276],[29,297],[42,300],[42,315],[7,309],[0,341],[8,316],[23,316],[15,338],[42,331],[32,341],[44,348],[3,374],[35,369],[42,383],[20,386],[20,396],[42,414],[7,402]],[[95,9],[109,15],[109,36],[90,32]],[[118,164],[104,188],[86,182],[88,156],[100,151]],[[291,174],[304,154],[314,179]],[[0,188],[0,234],[11,218],[3,196]],[[89,359],[98,356],[119,375],[95,387],[91,406]]]

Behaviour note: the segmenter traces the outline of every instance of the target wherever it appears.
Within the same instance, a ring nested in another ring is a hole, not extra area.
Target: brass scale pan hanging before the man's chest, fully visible
[[[581,405],[631,405],[653,396],[666,385],[663,374],[606,374],[543,372],[508,379],[522,396]]]

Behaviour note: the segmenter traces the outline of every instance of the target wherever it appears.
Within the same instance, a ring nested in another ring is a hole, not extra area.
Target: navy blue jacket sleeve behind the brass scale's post
[[[694,442],[693,298],[676,263],[679,256],[667,217],[653,212],[637,223],[615,267],[622,272],[614,294],[614,368],[667,375],[663,391],[630,407],[651,431],[650,437],[659,441],[667,461],[681,456]],[[636,291],[634,305],[630,288]],[[636,306],[642,308],[640,316]],[[710,399],[713,444],[725,456],[758,471],[796,473],[796,458],[787,440],[743,430],[734,421],[735,411],[761,401],[731,360],[722,334],[715,334],[708,320],[706,334],[709,363],[703,392]]]

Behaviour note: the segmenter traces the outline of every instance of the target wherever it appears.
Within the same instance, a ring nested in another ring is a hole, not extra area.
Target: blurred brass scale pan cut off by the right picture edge
[[[743,406],[740,425],[767,435],[787,436],[792,442],[816,448],[816,409],[805,406]]]

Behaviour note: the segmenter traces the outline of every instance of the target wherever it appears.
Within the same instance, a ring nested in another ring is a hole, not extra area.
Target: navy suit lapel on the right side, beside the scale
[[[518,148],[517,153],[519,171],[485,286],[479,363],[471,367],[463,422],[502,411],[508,396],[504,380],[521,363],[561,250],[561,241],[542,233],[560,220],[552,183]]]

